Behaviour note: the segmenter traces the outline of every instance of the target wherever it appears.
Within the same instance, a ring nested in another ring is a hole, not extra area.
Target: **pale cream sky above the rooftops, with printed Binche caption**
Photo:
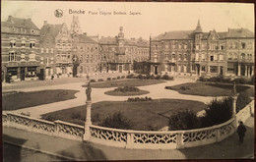
[[[11,15],[32,18],[36,27],[48,24],[71,25],[73,16],[79,16],[80,26],[88,35],[115,36],[123,27],[124,36],[149,39],[171,30],[193,30],[200,20],[203,31],[244,27],[254,31],[254,6],[243,3],[157,3],[157,2],[43,2],[2,1],[1,17],[6,21]],[[57,18],[54,11],[60,9],[63,16]],[[70,14],[69,10],[85,11]],[[96,13],[97,15],[92,15]],[[111,15],[100,15],[100,12]],[[126,12],[127,15],[114,15]],[[130,12],[140,15],[130,15]]]

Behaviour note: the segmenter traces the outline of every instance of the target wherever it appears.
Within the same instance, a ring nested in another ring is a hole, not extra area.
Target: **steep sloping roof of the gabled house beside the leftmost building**
[[[40,29],[40,35],[44,36],[47,33],[50,33],[54,38],[58,35],[62,25],[44,25]]]

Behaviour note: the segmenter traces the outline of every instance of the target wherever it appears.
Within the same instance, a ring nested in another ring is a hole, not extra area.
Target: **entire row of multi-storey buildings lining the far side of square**
[[[153,39],[113,37],[83,32],[78,17],[71,27],[41,28],[31,19],[9,16],[2,22],[2,81],[50,79],[94,73],[140,73],[170,76],[244,76],[254,74],[254,33],[246,28],[225,32],[164,32]]]

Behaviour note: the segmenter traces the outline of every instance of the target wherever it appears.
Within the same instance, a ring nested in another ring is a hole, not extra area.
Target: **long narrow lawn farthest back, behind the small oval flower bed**
[[[156,84],[164,82],[162,80],[140,80],[140,79],[129,79],[120,81],[102,81],[102,82],[92,82],[92,87],[103,88],[103,87],[119,87],[119,86],[145,86],[150,84]],[[83,85],[84,87],[87,84]]]

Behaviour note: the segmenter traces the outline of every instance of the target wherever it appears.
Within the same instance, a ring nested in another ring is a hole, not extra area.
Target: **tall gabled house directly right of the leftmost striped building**
[[[40,67],[45,78],[72,74],[72,38],[65,23],[49,25],[44,21],[40,29]]]

